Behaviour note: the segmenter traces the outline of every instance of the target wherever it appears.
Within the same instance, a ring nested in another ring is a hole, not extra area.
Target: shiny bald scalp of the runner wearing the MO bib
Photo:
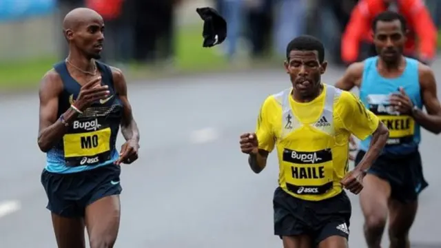
[[[98,12],[90,8],[76,8],[65,15],[63,30],[76,30],[80,25],[93,21],[103,21]]]

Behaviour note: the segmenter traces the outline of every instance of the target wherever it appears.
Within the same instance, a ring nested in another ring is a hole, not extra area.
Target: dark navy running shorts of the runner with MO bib
[[[105,165],[85,172],[57,174],[43,169],[41,184],[48,208],[66,218],[83,217],[85,207],[105,196],[121,194],[121,167]]]

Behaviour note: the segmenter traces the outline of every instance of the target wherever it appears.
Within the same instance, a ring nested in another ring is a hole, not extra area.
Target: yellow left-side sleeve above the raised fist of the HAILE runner
[[[256,136],[259,143],[258,148],[272,152],[275,145],[274,133],[271,126],[274,111],[274,96],[268,96],[260,107],[256,125]]]

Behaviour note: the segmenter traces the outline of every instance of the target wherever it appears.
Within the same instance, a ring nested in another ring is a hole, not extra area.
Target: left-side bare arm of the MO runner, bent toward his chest
[[[63,84],[59,74],[54,71],[50,71],[40,83],[39,99],[39,136],[38,145],[42,152],[48,152],[49,149],[57,143],[68,127],[66,127],[61,121],[57,121],[57,113],[59,107],[59,94],[63,90]],[[78,113],[69,108],[64,112],[63,117],[66,123],[72,123],[78,116]]]

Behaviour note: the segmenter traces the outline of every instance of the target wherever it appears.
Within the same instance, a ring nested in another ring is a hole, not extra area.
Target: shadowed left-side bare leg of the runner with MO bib
[[[52,214],[58,248],[85,248],[83,218],[65,218]]]

